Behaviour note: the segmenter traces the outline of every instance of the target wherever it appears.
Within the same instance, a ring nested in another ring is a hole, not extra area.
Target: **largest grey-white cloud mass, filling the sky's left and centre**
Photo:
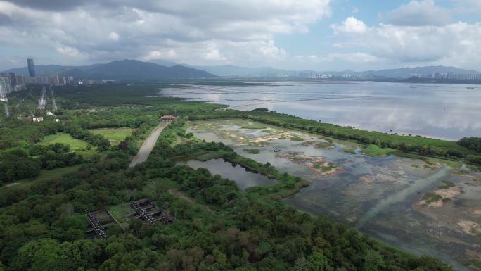
[[[329,2],[82,0],[56,6],[51,1],[0,0],[0,42],[25,51],[30,46],[58,51],[63,57],[51,62],[65,64],[80,58],[169,58],[252,65],[285,57],[286,51],[272,42],[274,34],[308,32],[309,24],[331,14]]]

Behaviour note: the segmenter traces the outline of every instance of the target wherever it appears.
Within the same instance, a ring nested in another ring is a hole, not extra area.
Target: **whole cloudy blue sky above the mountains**
[[[481,0],[0,0],[0,70],[27,58],[481,70]]]

